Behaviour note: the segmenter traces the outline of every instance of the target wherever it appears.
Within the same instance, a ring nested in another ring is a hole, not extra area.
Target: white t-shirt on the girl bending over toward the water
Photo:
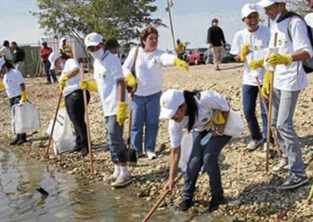
[[[198,107],[198,118],[193,125],[194,130],[204,131],[205,125],[210,121],[216,110],[229,111],[230,107],[227,100],[215,91],[200,92],[200,99],[195,96],[196,105]],[[180,123],[170,120],[169,133],[172,148],[178,148],[183,137],[183,129],[187,128],[189,117],[185,116]]]

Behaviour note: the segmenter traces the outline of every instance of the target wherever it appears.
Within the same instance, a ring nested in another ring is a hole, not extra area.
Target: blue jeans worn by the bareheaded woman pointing
[[[159,130],[161,92],[148,96],[134,96],[131,126],[131,145],[137,154],[142,153],[142,137],[144,132],[145,151],[154,152],[156,136]]]

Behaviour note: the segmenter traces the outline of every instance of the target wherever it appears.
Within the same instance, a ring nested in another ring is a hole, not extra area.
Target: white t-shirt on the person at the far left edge
[[[10,69],[3,78],[3,84],[5,85],[6,92],[9,98],[21,95],[21,84],[25,83],[25,80],[17,69]]]

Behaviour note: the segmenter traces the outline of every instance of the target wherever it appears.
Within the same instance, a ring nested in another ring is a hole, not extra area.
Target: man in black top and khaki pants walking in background
[[[207,46],[213,51],[214,68],[220,71],[219,64],[225,55],[224,45],[226,44],[223,30],[218,26],[219,20],[213,19],[212,26],[207,30]]]

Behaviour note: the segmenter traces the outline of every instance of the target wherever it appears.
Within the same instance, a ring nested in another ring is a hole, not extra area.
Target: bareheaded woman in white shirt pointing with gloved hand
[[[139,38],[141,46],[130,50],[123,65],[127,85],[131,88],[135,85],[137,87],[133,97],[131,145],[136,149],[137,156],[142,155],[143,129],[145,129],[144,150],[148,159],[153,159],[156,157],[154,148],[159,130],[162,68],[176,65],[188,70],[188,64],[176,58],[174,54],[158,49],[159,34],[155,28],[143,29]],[[136,51],[138,53],[135,62]],[[135,69],[132,70],[134,62]]]

